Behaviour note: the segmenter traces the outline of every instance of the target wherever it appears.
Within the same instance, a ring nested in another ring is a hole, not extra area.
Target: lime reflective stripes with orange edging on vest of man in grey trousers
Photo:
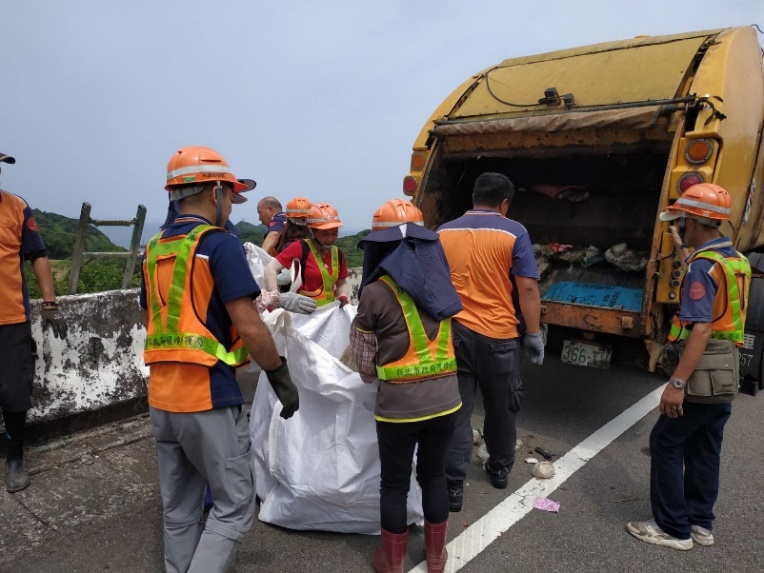
[[[244,364],[248,358],[247,349],[241,340],[228,350],[207,330],[197,318],[197,331],[180,332],[178,325],[184,301],[190,302],[190,269],[196,249],[202,236],[211,230],[220,230],[212,225],[199,225],[188,235],[160,240],[162,233],[154,235],[146,245],[146,298],[149,306],[149,325],[144,346],[144,361],[186,362],[213,366],[218,360],[229,366]],[[168,300],[162,304],[159,285],[156,284],[156,267],[159,257],[173,257],[172,279]],[[196,316],[196,315],[195,315]]]

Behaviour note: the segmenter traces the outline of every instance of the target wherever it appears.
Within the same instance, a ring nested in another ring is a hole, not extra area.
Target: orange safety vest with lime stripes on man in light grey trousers
[[[181,362],[212,367],[220,360],[237,367],[249,362],[247,349],[236,329],[231,326],[234,343],[226,348],[199,318],[205,313],[200,313],[194,303],[195,299],[209,300],[215,286],[209,269],[200,270],[205,269],[201,265],[194,268],[196,250],[205,234],[222,230],[212,225],[198,225],[188,235],[163,239],[162,233],[158,233],[146,245],[143,264],[149,311],[143,351],[146,364]],[[170,284],[160,290],[157,263],[173,260]]]

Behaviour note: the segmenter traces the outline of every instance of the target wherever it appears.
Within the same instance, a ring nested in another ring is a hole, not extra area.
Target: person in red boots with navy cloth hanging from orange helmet
[[[350,347],[361,379],[378,384],[382,547],[372,560],[377,573],[403,570],[415,448],[427,571],[442,573],[448,558],[445,456],[462,404],[451,316],[462,304],[438,234],[423,224],[411,202],[394,199],[377,209],[371,233],[360,243],[364,268]]]

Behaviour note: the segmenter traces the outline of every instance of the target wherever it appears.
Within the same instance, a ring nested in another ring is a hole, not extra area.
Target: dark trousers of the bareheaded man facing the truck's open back
[[[455,320],[451,324],[462,407],[456,412],[456,427],[446,450],[446,480],[461,485],[472,459],[470,418],[478,387],[485,406],[483,438],[491,468],[507,472],[515,463],[515,416],[522,406],[525,388],[520,378],[518,338],[489,338]]]

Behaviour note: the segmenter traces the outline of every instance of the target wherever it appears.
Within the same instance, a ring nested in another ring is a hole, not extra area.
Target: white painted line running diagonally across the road
[[[446,573],[455,573],[477,557],[481,551],[498,539],[533,509],[537,497],[548,497],[565,481],[580,470],[586,462],[610,445],[626,430],[644,418],[659,403],[665,384],[650,392],[639,402],[613,418],[554,464],[555,475],[550,479],[532,478],[523,487],[465,529],[447,545]],[[452,522],[456,521],[452,519]],[[427,573],[427,562],[422,561],[409,573]]]

